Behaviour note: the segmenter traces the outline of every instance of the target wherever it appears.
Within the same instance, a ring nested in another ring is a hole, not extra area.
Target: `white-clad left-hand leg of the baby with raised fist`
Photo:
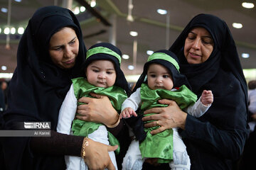
[[[132,140],[122,162],[122,170],[141,170],[143,162],[139,141]]]

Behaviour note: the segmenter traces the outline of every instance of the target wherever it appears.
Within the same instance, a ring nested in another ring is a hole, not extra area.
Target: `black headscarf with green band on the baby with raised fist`
[[[137,81],[136,86],[134,87],[134,91],[136,91],[136,89],[138,89],[140,86],[142,86],[142,83],[147,83],[145,81],[145,77],[146,77],[147,71],[149,69],[149,65],[153,64],[153,63],[161,64],[162,66],[166,67],[166,69],[168,69],[169,74],[171,74],[171,77],[174,81],[174,87],[180,87],[182,85],[186,85],[188,87],[188,89],[191,88],[190,85],[188,84],[188,80],[186,79],[186,77],[179,72],[179,70],[175,67],[174,63],[168,61],[169,60],[168,57],[172,58],[173,60],[175,60],[176,64],[179,65],[178,58],[176,57],[176,55],[173,52],[171,52],[169,50],[158,50],[158,51],[154,52],[151,56],[159,55],[159,54],[161,55],[161,53],[163,53],[164,57],[167,57],[167,58],[164,59],[162,57],[154,57],[154,60],[150,60],[150,61],[146,62],[144,64],[143,72],[142,72],[141,76],[139,77],[139,80]],[[151,56],[149,56],[149,58]]]

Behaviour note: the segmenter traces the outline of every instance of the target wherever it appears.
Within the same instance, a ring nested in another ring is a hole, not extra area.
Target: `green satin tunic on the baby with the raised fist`
[[[143,111],[148,110],[149,108],[168,106],[158,103],[158,101],[163,98],[176,101],[181,109],[192,105],[197,99],[196,94],[193,94],[193,92],[190,91],[185,85],[181,86],[176,91],[169,91],[164,89],[151,90],[149,89],[149,86],[142,84],[140,94],[142,98],[142,112],[140,114],[143,114]],[[145,129],[146,139],[139,144],[142,158],[159,158],[159,163],[171,162],[173,159],[173,130],[164,130],[164,132],[151,135],[151,130],[156,130],[157,128],[159,127]]]

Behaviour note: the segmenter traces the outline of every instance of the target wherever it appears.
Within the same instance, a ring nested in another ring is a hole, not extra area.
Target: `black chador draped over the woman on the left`
[[[48,53],[51,36],[61,28],[75,30],[79,52],[72,69],[60,69],[50,60]],[[18,45],[17,67],[9,84],[8,110],[4,113],[4,129],[16,128],[24,121],[50,122],[56,130],[58,111],[71,85],[71,78],[85,61],[85,45],[80,24],[72,11],[58,6],[39,8],[28,21]],[[9,169],[58,169],[65,165],[63,157],[33,157],[29,143],[31,137],[3,137],[6,166]],[[54,162],[54,163],[53,163]]]

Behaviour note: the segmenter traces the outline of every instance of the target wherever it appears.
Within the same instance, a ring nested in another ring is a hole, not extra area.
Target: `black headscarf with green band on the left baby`
[[[92,49],[97,50],[92,52]],[[89,53],[92,54],[90,55],[90,57],[88,56]],[[109,42],[100,42],[95,45],[92,45],[92,47],[88,49],[87,58],[82,69],[85,70],[87,66],[95,60],[110,60],[114,63],[114,69],[117,74],[117,78],[114,82],[114,85],[124,89],[124,91],[126,91],[127,93],[127,96],[129,96],[129,94],[131,94],[131,90],[129,89],[127,79],[125,79],[124,77],[124,72],[122,72],[122,69],[120,67],[121,59],[122,52],[117,47],[110,44]]]

